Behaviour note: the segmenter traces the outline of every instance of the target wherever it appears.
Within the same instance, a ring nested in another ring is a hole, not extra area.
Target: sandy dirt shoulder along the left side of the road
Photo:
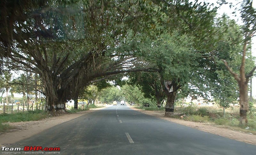
[[[0,134],[0,143],[1,144],[13,144],[22,139],[31,137],[35,134],[42,132],[43,130],[49,129],[55,125],[58,125],[63,122],[67,122],[69,120],[80,117],[84,114],[91,113],[95,110],[100,110],[102,108],[90,109],[87,111],[82,111],[74,114],[63,114],[59,116],[52,116],[49,118],[45,118],[39,121],[29,121],[29,122],[15,122],[9,123],[9,125],[13,128],[8,130],[7,133]],[[53,118],[54,117],[54,118]],[[2,146],[2,145],[1,145]]]

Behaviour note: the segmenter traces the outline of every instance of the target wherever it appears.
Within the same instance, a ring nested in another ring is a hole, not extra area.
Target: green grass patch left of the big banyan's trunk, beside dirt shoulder
[[[12,114],[0,114],[0,122],[25,122],[37,121],[45,118],[47,113],[41,110],[25,111]]]

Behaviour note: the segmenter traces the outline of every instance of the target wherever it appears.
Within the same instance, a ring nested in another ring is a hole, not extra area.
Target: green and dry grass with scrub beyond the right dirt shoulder
[[[144,110],[163,110],[164,107],[137,107]],[[247,113],[248,124],[246,126],[241,126],[239,124],[239,107],[229,107],[226,110],[226,117],[223,115],[223,108],[221,107],[175,107],[174,118],[180,118],[181,114],[186,114],[187,117],[184,117],[184,120],[193,121],[193,122],[210,122],[215,123],[216,125],[221,125],[229,129],[239,130],[241,132],[251,132],[256,134],[256,112]],[[245,129],[246,127],[249,129]]]

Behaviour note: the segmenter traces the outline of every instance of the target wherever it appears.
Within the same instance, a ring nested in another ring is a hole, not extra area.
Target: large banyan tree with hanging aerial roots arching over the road
[[[131,41],[151,25],[143,10],[146,4],[107,0],[1,3],[3,60],[11,68],[40,76],[48,111],[65,111],[65,102],[93,80],[154,71],[134,65],[138,58]]]

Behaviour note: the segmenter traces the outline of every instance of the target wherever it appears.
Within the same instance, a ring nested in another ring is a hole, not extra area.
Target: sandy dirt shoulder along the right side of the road
[[[133,110],[140,111],[141,113],[155,116],[155,117],[158,117],[158,118],[170,121],[170,122],[185,125],[185,126],[188,126],[191,128],[195,128],[195,129],[198,129],[198,130],[201,130],[204,132],[209,132],[209,133],[219,135],[222,137],[227,137],[227,138],[234,139],[237,141],[256,145],[256,135],[251,135],[248,133],[243,133],[243,132],[235,131],[232,129],[226,129],[224,127],[220,127],[220,126],[217,126],[217,125],[211,124],[211,123],[191,122],[191,121],[184,121],[184,120],[180,120],[180,119],[176,119],[176,118],[164,117],[164,111],[146,111],[146,110],[137,109],[132,106],[129,106],[129,107]]]

